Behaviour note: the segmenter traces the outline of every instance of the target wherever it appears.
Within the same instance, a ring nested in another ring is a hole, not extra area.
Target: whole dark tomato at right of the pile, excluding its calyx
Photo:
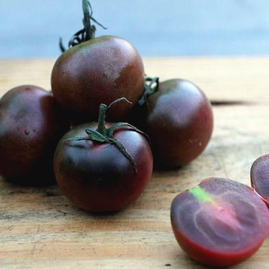
[[[206,148],[212,130],[211,104],[192,82],[167,80],[148,97],[145,132],[159,165],[179,167],[191,162]]]

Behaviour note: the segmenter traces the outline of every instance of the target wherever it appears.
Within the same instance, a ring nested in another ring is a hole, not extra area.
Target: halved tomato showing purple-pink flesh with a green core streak
[[[171,221],[183,250],[215,268],[244,261],[269,232],[266,204],[250,187],[226,178],[207,178],[178,194]]]

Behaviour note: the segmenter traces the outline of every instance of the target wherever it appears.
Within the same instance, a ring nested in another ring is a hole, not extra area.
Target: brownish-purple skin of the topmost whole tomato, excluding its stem
[[[57,102],[87,121],[97,120],[101,103],[126,97],[132,105],[119,104],[108,114],[108,119],[122,121],[139,100],[143,83],[141,56],[116,36],[100,36],[72,47],[58,58],[51,73]]]

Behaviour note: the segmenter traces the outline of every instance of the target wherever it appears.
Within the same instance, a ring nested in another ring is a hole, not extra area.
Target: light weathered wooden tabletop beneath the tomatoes
[[[1,60],[0,95],[19,84],[49,89],[53,63]],[[0,180],[0,268],[204,268],[176,243],[169,207],[179,191],[209,176],[250,184],[250,165],[269,152],[268,66],[269,58],[145,59],[148,75],[192,80],[218,104],[208,148],[183,169],[154,172],[142,196],[115,215],[78,210],[57,187]],[[235,268],[268,263],[269,239]]]

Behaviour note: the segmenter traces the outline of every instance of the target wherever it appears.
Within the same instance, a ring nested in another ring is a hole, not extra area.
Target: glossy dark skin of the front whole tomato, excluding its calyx
[[[106,124],[108,126],[108,124]],[[129,127],[114,134],[137,163],[137,174],[130,161],[115,145],[92,140],[66,141],[86,137],[82,124],[69,131],[58,143],[54,172],[63,194],[79,208],[96,213],[119,211],[136,200],[152,176],[152,152],[148,141]]]

